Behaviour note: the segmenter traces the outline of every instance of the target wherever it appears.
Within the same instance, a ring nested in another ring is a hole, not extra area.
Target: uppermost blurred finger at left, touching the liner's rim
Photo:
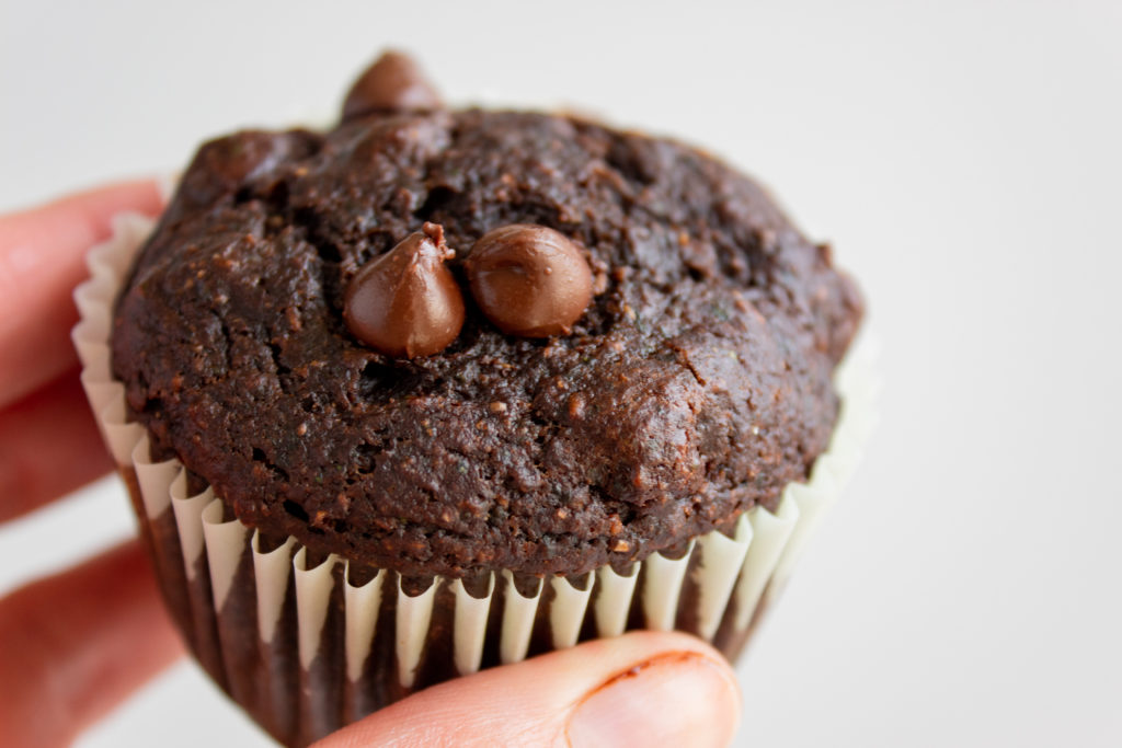
[[[121,211],[155,214],[150,179],[84,192],[0,216],[0,407],[74,366],[71,293],[84,277],[84,256],[109,237]]]

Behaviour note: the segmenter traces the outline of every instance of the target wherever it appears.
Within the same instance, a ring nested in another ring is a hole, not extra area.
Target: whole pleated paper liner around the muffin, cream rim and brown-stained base
[[[755,507],[732,536],[695,538],[629,570],[571,581],[490,574],[469,590],[435,576],[414,589],[389,570],[352,580],[338,556],[313,558],[294,538],[267,543],[228,515],[212,489],[188,490],[176,460],[150,459],[144,428],[126,418],[110,370],[117,292],[153,221],[121,215],[91,250],[75,292],[73,331],[82,384],[134,495],[168,607],[214,680],[278,740],[304,745],[410,692],[481,667],[514,663],[633,628],[682,629],[735,657],[779,593],[807,538],[857,463],[872,427],[870,345],[837,372],[842,396],[829,449],[807,483],[772,514]]]

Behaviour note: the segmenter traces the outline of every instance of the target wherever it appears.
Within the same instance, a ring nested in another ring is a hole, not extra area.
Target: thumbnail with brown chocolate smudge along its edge
[[[569,744],[724,748],[741,718],[728,668],[696,653],[674,653],[617,675],[578,704]]]

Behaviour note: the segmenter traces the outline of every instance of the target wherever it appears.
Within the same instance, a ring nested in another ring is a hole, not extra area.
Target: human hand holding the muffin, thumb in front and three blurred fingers
[[[0,523],[112,469],[77,378],[71,293],[113,214],[159,209],[155,183],[134,182],[0,216]],[[137,541],[12,592],[0,745],[65,745],[182,652]],[[709,646],[644,631],[443,683],[318,745],[725,746],[739,701]]]

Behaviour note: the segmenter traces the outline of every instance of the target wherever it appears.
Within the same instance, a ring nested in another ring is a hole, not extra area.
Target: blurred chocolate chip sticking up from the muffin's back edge
[[[413,58],[389,50],[351,85],[343,100],[343,119],[378,111],[431,111],[440,108],[440,96]]]

